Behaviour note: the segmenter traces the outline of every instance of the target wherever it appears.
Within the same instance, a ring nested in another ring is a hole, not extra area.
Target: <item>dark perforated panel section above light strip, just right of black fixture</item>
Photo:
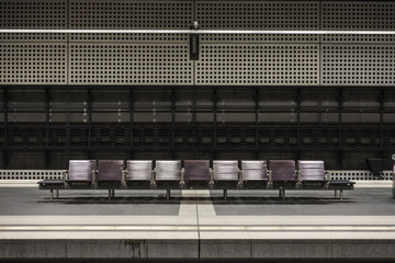
[[[318,1],[196,1],[202,28],[319,27]]]

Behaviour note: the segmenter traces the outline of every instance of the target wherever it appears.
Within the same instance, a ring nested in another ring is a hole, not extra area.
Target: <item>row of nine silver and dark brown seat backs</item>
[[[183,167],[181,167],[183,163]],[[126,165],[125,165],[126,164]],[[191,181],[215,183],[235,181],[239,184],[253,182],[306,183],[326,182],[324,161],[306,160],[70,160],[65,181],[122,182]]]

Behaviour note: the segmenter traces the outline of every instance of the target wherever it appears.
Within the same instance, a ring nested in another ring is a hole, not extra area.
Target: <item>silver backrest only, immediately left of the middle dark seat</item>
[[[156,161],[155,180],[157,181],[180,181],[181,180],[181,161]]]

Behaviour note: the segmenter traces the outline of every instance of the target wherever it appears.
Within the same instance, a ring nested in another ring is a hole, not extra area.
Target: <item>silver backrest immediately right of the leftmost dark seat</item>
[[[128,160],[126,162],[126,181],[150,181],[153,172],[151,160]]]

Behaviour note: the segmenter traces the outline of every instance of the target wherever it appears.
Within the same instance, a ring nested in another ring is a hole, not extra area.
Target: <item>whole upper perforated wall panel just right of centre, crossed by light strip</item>
[[[202,28],[317,30],[318,1],[196,1]],[[203,34],[202,43],[318,43],[317,35]]]

